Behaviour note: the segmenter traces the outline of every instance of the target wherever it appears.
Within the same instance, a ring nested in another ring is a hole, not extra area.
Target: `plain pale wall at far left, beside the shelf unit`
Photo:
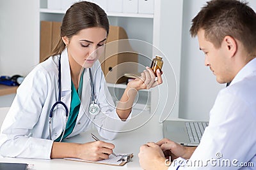
[[[39,62],[39,1],[0,1],[0,75],[26,74]]]

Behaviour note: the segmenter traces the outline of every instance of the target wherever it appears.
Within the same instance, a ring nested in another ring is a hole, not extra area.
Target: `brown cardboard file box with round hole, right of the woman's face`
[[[125,74],[138,73],[138,53],[132,50],[122,27],[110,26],[104,58],[99,60],[108,83],[124,83]]]

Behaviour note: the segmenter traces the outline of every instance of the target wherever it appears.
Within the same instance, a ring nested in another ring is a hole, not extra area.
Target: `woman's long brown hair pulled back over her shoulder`
[[[109,33],[108,17],[102,8],[97,4],[87,1],[74,3],[65,13],[60,27],[60,39],[51,52],[51,56],[59,55],[65,50],[65,43],[62,41],[63,36],[72,38],[79,31],[91,27],[102,27]],[[49,57],[45,58],[47,60]]]

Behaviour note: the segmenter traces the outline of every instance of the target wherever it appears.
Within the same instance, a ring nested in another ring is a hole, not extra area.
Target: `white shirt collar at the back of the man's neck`
[[[246,76],[249,76],[253,72],[256,71],[256,58],[250,60],[235,76],[235,78],[231,81],[230,85],[243,80]]]

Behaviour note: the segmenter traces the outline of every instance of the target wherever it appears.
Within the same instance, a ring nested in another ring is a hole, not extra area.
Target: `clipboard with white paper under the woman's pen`
[[[99,161],[90,161],[76,158],[65,158],[65,160],[73,160],[78,162],[88,162],[95,164],[104,164],[108,166],[124,166],[127,162],[132,162],[133,153],[119,153],[117,157],[114,155],[109,155],[109,159],[99,160]]]

